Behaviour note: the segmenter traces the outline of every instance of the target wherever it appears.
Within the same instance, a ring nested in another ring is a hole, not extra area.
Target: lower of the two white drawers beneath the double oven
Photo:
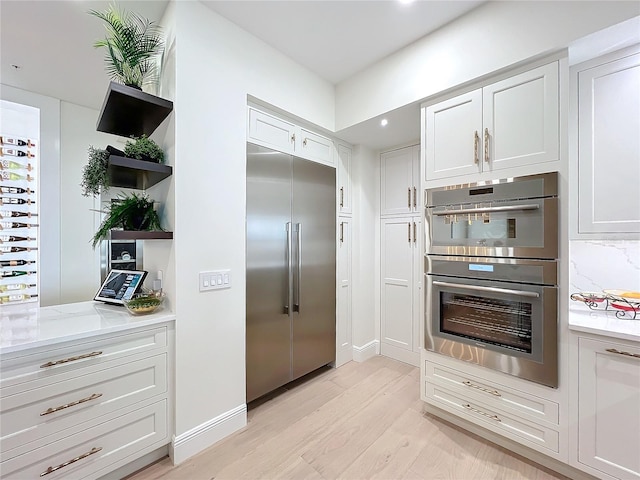
[[[544,447],[555,453],[559,451],[560,434],[556,430],[474,402],[468,397],[429,382],[425,382],[425,395],[429,403],[519,443],[534,448]],[[537,448],[541,451],[544,449]]]

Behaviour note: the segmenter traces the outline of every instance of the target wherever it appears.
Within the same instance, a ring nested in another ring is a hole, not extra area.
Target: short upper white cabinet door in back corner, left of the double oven
[[[414,153],[413,147],[401,148],[380,155],[380,214],[413,212]]]

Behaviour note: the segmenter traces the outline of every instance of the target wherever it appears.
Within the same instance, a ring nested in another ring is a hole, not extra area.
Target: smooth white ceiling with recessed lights
[[[194,0],[177,0],[194,1]],[[392,54],[464,15],[484,0],[297,0],[202,3],[331,83]],[[3,84],[99,109],[109,79],[102,50],[102,22],[87,14],[102,0],[0,0],[0,73]],[[167,0],[119,0],[118,5],[159,20]],[[68,26],[65,28],[65,26]],[[19,68],[15,68],[17,65]],[[419,138],[419,107],[389,113],[340,133],[372,148]]]

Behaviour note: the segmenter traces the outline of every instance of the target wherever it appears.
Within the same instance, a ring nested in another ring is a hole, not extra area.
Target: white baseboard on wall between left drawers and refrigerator
[[[185,433],[174,436],[169,449],[171,461],[178,465],[246,425],[247,405],[243,403]]]

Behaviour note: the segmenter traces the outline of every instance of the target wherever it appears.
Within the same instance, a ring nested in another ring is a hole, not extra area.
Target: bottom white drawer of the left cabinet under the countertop
[[[6,480],[97,478],[107,473],[107,467],[124,465],[168,441],[167,402],[163,400],[4,461],[0,470]],[[64,464],[46,473],[49,467]]]

